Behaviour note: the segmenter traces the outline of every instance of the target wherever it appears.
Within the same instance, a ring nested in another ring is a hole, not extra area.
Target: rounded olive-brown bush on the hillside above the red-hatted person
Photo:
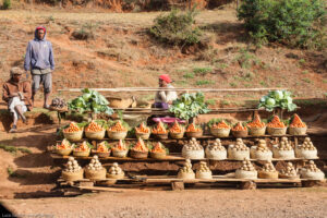
[[[194,25],[196,12],[172,10],[167,15],[159,15],[149,33],[158,40],[171,45],[194,45],[199,43],[202,32]]]

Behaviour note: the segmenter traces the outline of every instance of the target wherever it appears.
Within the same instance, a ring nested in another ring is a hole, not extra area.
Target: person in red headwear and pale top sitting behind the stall
[[[159,87],[160,88],[174,88],[170,83],[171,78],[168,74],[162,74],[159,76]],[[169,105],[178,98],[175,90],[158,90],[155,97],[154,108],[168,109]]]

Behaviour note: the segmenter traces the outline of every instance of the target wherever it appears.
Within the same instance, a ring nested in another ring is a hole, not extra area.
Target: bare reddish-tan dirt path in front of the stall
[[[129,191],[73,198],[8,199],[20,215],[44,217],[327,217],[327,187]]]

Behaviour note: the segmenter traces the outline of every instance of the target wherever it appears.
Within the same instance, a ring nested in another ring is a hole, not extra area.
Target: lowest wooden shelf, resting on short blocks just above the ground
[[[104,179],[104,180],[77,180],[68,182],[61,178],[57,181],[61,186],[75,187],[77,190],[90,191],[124,191],[119,187],[140,187],[147,185],[171,185],[172,190],[184,190],[184,185],[195,184],[233,184],[240,189],[254,190],[258,185],[296,185],[312,186],[318,182],[326,182],[326,180],[307,180],[307,179],[237,179],[227,175],[214,175],[213,179],[179,179],[174,175],[136,175],[133,179]],[[100,186],[99,186],[100,185]],[[105,186],[104,186],[105,185]],[[106,186],[107,185],[107,186]],[[118,189],[117,189],[118,187]]]

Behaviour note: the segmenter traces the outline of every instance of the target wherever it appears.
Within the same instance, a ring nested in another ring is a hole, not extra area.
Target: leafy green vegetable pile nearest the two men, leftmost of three
[[[68,104],[70,110],[77,111],[78,113],[83,113],[85,111],[92,111],[95,113],[104,112],[109,116],[113,113],[113,110],[108,106],[108,100],[98,92],[85,88],[82,93],[82,96]]]

